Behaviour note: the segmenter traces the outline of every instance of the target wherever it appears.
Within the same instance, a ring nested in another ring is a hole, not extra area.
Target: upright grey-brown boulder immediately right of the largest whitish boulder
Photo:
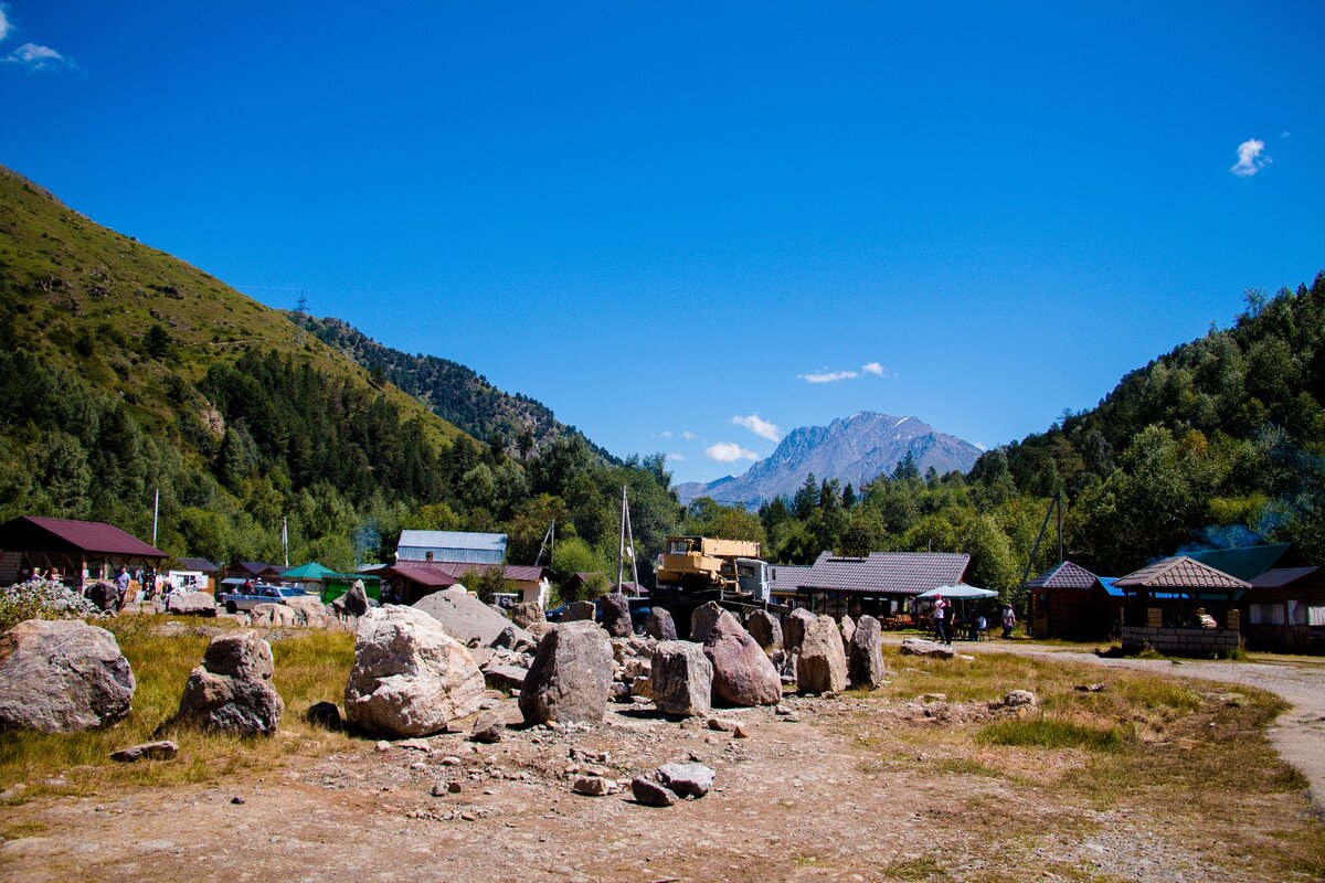
[[[519,691],[525,723],[598,723],[612,684],[612,643],[596,622],[563,622],[538,645]]]

